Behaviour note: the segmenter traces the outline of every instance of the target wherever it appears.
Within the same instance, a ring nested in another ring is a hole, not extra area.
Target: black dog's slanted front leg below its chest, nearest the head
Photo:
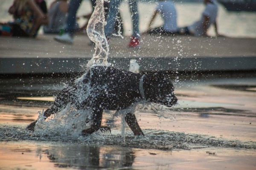
[[[144,133],[141,130],[134,113],[127,113],[125,115],[125,121],[126,121],[127,125],[133,131],[134,135],[144,136]]]

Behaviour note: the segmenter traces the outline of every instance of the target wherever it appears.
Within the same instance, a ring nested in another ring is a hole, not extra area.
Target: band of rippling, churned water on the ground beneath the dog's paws
[[[49,130],[49,128],[47,128]],[[66,142],[73,144],[87,144],[94,146],[100,145],[114,145],[121,147],[139,147],[148,149],[193,149],[193,148],[208,148],[208,147],[235,147],[256,149],[256,142],[243,142],[239,140],[222,139],[215,136],[201,135],[194,133],[183,133],[165,130],[144,130],[145,136],[134,136],[128,134],[125,141],[113,129],[112,135],[105,135],[105,133],[97,132],[90,136],[79,136],[71,138],[71,136],[58,136],[55,134],[45,133],[45,135],[30,133],[24,128],[18,126],[2,126],[0,127],[0,141],[41,141],[41,142]],[[100,135],[99,135],[100,134]]]

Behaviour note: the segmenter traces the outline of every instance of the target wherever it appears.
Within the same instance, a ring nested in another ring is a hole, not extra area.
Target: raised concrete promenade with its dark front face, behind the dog
[[[78,72],[93,56],[86,35],[77,35],[73,45],[53,37],[0,37],[0,74]],[[111,39],[108,61],[115,67],[128,69],[130,59],[137,59],[140,71],[256,70],[256,39],[145,35],[140,49],[128,48],[128,42],[129,37]]]

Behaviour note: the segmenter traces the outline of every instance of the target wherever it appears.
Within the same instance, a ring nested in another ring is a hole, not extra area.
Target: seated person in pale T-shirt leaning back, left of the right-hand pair
[[[204,0],[205,9],[199,21],[191,26],[179,28],[180,34],[207,36],[208,28],[214,24],[216,35],[219,36],[217,30],[216,17],[218,13],[218,5],[215,0]]]

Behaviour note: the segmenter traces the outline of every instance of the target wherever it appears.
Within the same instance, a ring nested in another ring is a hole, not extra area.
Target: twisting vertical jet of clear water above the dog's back
[[[88,22],[87,35],[95,43],[93,58],[87,63],[87,71],[92,65],[108,65],[108,41],[105,37],[104,0],[96,0],[96,7]]]

